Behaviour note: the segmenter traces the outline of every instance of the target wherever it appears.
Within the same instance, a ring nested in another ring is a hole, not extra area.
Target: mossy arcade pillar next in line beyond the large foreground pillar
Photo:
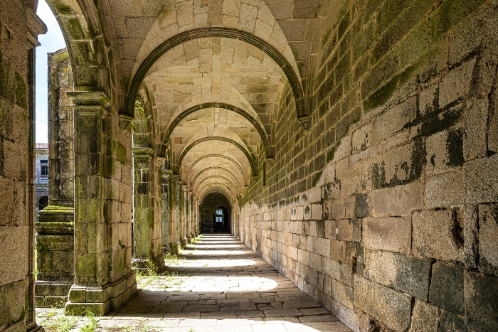
[[[134,147],[133,159],[133,266],[139,269],[164,268],[161,240],[161,211],[159,210],[158,159],[150,148]],[[162,159],[161,159],[162,160]],[[162,164],[162,163],[161,163]]]

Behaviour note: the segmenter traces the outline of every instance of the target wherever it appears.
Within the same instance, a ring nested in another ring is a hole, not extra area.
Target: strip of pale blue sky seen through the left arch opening
[[[38,36],[41,46],[36,48],[36,142],[48,142],[47,127],[47,53],[65,48],[65,41],[59,24],[45,0],[38,1],[36,14],[45,22],[48,32]]]

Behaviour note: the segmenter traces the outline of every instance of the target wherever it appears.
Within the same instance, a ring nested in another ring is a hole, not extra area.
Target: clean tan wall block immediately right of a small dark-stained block
[[[423,193],[420,183],[373,191],[375,216],[408,215],[413,210],[420,210],[422,205]]]

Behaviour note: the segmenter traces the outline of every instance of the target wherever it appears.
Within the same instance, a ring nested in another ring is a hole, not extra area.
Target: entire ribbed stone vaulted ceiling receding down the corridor
[[[309,117],[321,0],[49,2],[73,68],[95,64],[75,74],[76,85],[104,84],[108,65],[119,112],[134,119],[134,143],[165,156],[198,198],[217,191],[233,200],[259,175],[258,161],[272,161],[285,85],[297,117]],[[82,48],[88,57],[77,56]]]

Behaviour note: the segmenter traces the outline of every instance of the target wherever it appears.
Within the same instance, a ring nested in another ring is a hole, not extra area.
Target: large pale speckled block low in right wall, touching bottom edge
[[[410,326],[411,297],[398,291],[354,277],[354,305],[366,311],[388,328],[404,331]]]

